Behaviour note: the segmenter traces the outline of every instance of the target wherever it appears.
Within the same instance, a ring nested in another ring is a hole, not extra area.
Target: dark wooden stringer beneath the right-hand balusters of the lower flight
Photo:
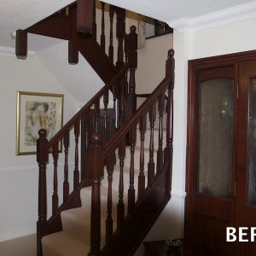
[[[131,256],[136,252],[171,199],[171,193],[166,193],[167,172],[160,172],[155,177],[154,184],[145,190],[143,201],[137,201],[135,211],[125,218],[123,228],[116,230],[109,245],[102,248],[102,255]]]

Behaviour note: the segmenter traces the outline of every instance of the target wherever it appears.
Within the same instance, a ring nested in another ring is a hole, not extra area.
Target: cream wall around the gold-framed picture
[[[0,55],[0,67],[0,241],[4,241],[35,233],[38,218],[36,155],[15,155],[17,91],[64,94],[64,123],[76,112],[77,102],[37,56],[21,61],[15,56]],[[50,166],[47,172],[49,196],[52,193]]]

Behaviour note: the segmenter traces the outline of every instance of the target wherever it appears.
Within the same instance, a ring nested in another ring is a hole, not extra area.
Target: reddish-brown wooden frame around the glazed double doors
[[[202,59],[195,59],[189,61],[189,73],[188,73],[188,113],[187,113],[187,157],[186,157],[186,199],[185,199],[185,218],[184,218],[184,239],[188,246],[193,246],[195,242],[194,226],[195,226],[195,194],[197,189],[197,156],[195,153],[196,142],[198,141],[198,134],[196,130],[198,120],[198,102],[196,102],[196,73],[198,70],[206,68],[217,67],[235,67],[235,86],[238,88],[238,65],[241,61],[250,61],[256,59],[256,50],[240,52],[229,55],[218,55],[213,57],[207,57]],[[239,93],[239,92],[238,92]],[[237,104],[234,104],[236,107]],[[237,109],[234,109],[237,112]],[[234,120],[236,122],[236,120]],[[237,137],[237,125],[234,129],[234,142],[236,145]],[[236,163],[233,162],[233,166]],[[234,170],[233,170],[234,171]],[[233,180],[234,179],[234,180]],[[235,195],[236,191],[233,186],[236,177],[233,177],[232,181],[232,195]],[[233,206],[235,207],[235,206]],[[234,211],[233,211],[234,212]],[[232,216],[234,223],[234,215]]]

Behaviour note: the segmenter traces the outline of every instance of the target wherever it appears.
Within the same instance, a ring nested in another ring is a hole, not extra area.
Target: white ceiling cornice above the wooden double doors
[[[253,17],[256,17],[256,2],[241,4],[230,9],[224,9],[201,17],[184,17],[167,23],[179,32],[198,32],[216,26],[247,20]]]

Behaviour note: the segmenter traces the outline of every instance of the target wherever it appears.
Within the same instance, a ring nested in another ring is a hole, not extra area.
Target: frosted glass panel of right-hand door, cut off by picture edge
[[[248,172],[248,204],[256,205],[256,79],[249,84],[249,172]]]

